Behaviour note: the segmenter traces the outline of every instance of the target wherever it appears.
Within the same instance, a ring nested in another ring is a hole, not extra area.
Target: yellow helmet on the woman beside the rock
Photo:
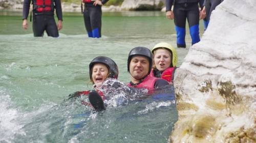
[[[166,48],[167,50],[169,50],[172,53],[172,64],[171,64],[171,66],[176,67],[177,62],[178,62],[178,56],[177,56],[176,49],[172,45],[170,45],[169,43],[160,42],[152,48],[151,52],[154,54],[154,51],[158,48]]]

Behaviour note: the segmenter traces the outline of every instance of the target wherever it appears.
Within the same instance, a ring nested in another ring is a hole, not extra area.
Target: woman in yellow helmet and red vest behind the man
[[[165,79],[172,84],[178,61],[176,49],[166,42],[161,42],[156,44],[151,51],[153,53],[153,69],[150,75]]]

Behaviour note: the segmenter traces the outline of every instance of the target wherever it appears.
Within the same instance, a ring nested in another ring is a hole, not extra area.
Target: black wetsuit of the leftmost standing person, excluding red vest
[[[60,0],[52,0],[53,7],[49,12],[38,12],[36,10],[36,0],[24,0],[23,3],[23,19],[27,19],[31,1],[33,2],[33,33],[34,37],[44,36],[44,31],[48,36],[59,37],[58,28],[54,20],[54,9],[58,20],[62,20],[62,10]],[[44,0],[45,1],[45,0]]]

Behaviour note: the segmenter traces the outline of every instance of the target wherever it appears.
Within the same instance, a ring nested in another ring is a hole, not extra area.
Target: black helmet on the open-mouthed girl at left
[[[93,65],[97,64],[97,63],[101,63],[101,64],[106,65],[106,67],[108,67],[108,69],[109,69],[109,76],[108,77],[117,79],[117,77],[118,77],[118,67],[117,67],[116,63],[112,59],[110,59],[106,56],[97,56],[96,58],[94,58],[92,60],[92,62],[89,65],[90,79],[91,80],[92,80]]]

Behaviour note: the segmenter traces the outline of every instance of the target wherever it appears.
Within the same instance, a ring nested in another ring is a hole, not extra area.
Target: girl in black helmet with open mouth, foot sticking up
[[[105,97],[103,93],[99,91],[99,89],[106,78],[117,79],[118,67],[112,59],[106,56],[97,56],[90,63],[89,72],[91,82],[94,84],[94,90],[75,92],[74,94],[71,94],[69,96],[70,98],[73,98],[81,95],[88,95],[90,103],[83,101],[82,104],[92,105],[96,111],[105,110],[105,106],[103,103]]]

